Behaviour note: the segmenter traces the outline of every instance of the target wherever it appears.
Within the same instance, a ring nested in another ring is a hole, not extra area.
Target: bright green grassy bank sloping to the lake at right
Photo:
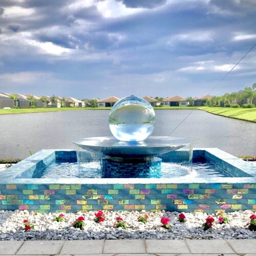
[[[211,114],[225,116],[229,118],[240,119],[256,123],[256,108],[243,109],[243,108],[218,108],[214,106],[201,106],[198,109],[207,111]]]

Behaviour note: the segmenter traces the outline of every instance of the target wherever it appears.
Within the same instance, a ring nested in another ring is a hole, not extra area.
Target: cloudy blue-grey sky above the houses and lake
[[[256,43],[256,0],[0,0],[0,92],[208,94]],[[256,47],[211,93],[256,82]]]

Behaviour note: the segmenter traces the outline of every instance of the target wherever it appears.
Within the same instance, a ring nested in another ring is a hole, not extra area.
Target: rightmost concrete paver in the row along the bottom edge
[[[239,254],[255,254],[256,255],[256,240],[227,240],[227,243],[233,248],[234,252]]]

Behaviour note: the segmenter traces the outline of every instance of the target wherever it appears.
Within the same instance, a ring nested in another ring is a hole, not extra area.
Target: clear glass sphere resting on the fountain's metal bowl
[[[122,141],[142,141],[150,136],[156,122],[151,104],[137,96],[127,96],[113,106],[109,125],[112,134]]]

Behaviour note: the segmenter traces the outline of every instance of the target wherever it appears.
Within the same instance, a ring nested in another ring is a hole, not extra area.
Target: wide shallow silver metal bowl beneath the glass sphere
[[[119,141],[115,137],[91,137],[73,141],[84,150],[112,157],[150,157],[178,150],[191,140],[167,136],[151,136],[144,141]]]

